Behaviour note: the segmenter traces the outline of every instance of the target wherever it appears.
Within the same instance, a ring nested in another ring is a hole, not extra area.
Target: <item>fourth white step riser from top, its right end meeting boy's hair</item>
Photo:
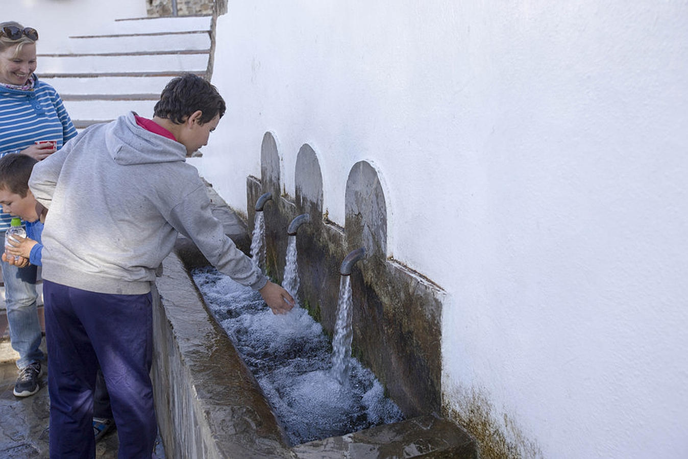
[[[41,74],[39,74],[41,78]],[[65,94],[160,94],[172,76],[94,76],[87,78],[41,78],[62,96]]]

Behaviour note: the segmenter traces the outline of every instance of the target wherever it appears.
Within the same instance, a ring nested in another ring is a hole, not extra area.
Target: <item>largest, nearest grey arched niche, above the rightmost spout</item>
[[[350,250],[387,256],[387,205],[378,172],[367,161],[351,168],[346,183],[345,231]]]

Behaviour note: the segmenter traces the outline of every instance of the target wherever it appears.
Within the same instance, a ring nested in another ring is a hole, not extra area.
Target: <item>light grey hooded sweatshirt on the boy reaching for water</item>
[[[213,217],[184,145],[138,126],[133,112],[89,126],[37,163],[29,188],[50,210],[43,278],[51,282],[148,293],[178,232],[240,284],[261,289],[267,282]]]

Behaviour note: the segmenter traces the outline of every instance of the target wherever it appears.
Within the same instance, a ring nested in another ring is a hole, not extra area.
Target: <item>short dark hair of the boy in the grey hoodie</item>
[[[222,96],[210,82],[194,74],[185,74],[167,83],[153,115],[182,124],[186,117],[200,110],[203,113],[200,121],[207,123],[216,115],[222,117],[225,109]]]

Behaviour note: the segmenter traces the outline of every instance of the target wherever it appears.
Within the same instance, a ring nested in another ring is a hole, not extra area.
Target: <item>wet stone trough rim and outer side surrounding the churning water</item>
[[[246,251],[246,225],[222,205],[214,212]],[[153,385],[166,457],[477,458],[473,440],[433,414],[290,445],[257,381],[197,293],[189,271],[206,264],[180,238],[153,295]]]

